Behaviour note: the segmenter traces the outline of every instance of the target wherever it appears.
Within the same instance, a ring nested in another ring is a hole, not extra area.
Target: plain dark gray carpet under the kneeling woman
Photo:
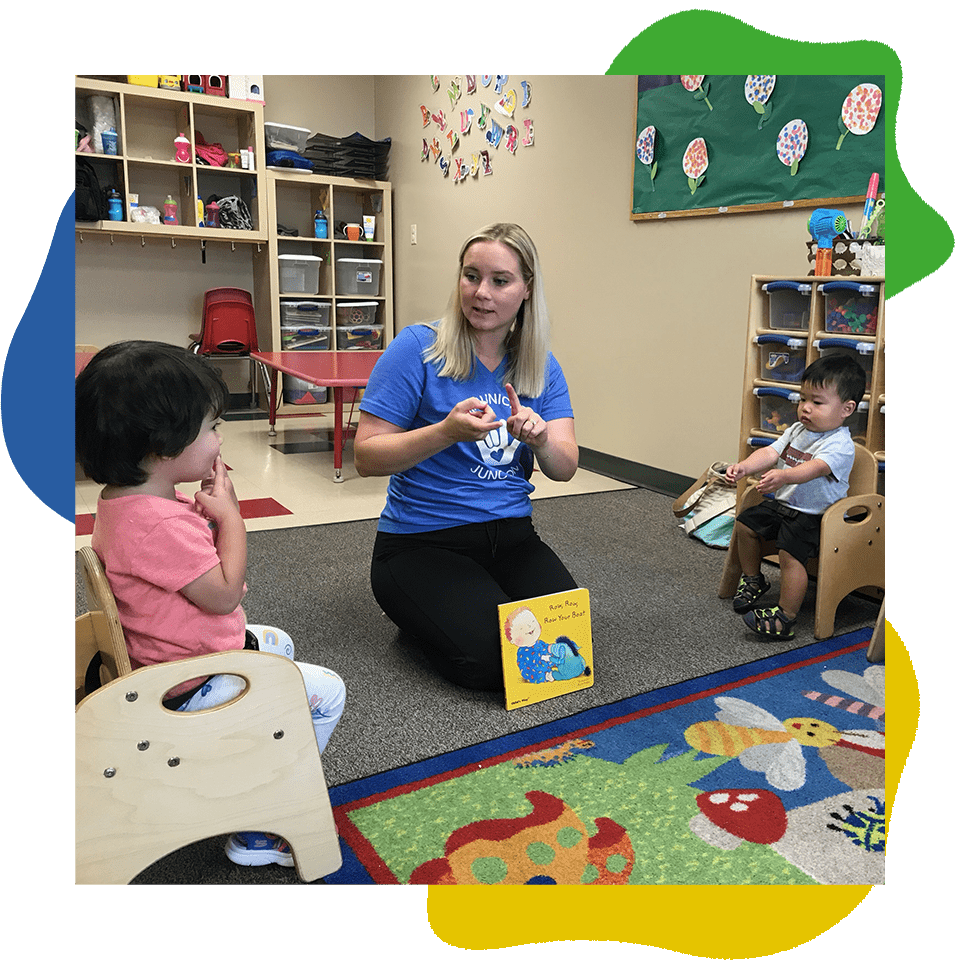
[[[811,586],[797,636],[765,643],[716,596],[724,551],[688,538],[672,498],[632,489],[534,501],[541,537],[590,591],[595,682],[586,690],[507,711],[502,694],[438,677],[398,636],[370,592],[376,521],[248,536],[248,620],[286,630],[299,660],[336,670],[347,707],[323,755],[330,786],[547,723],[600,704],[815,643]],[[769,566],[777,595],[779,571]],[[85,609],[77,581],[77,611]],[[847,597],[836,633],[872,626],[879,602]],[[137,883],[299,883],[293,870],[239,868],[222,838],[193,844]]]

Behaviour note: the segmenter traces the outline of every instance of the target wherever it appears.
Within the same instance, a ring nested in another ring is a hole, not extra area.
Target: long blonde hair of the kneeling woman
[[[439,376],[466,380],[477,362],[472,328],[460,302],[460,273],[463,258],[470,247],[482,240],[508,246],[520,262],[520,274],[530,287],[530,297],[520,305],[517,319],[507,335],[506,383],[512,383],[521,396],[538,397],[543,393],[544,371],[550,350],[550,318],[543,294],[543,279],[537,248],[527,232],[515,223],[492,223],[464,241],[457,265],[457,282],[444,315],[431,324],[437,331],[434,343],[424,359],[436,362]]]

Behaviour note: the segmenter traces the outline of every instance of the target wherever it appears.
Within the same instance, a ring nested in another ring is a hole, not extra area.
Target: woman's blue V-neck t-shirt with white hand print
[[[504,360],[492,373],[477,363],[468,380],[437,375],[437,364],[423,352],[435,339],[432,327],[404,327],[388,345],[370,375],[360,409],[402,427],[416,430],[439,423],[468,397],[484,400],[499,420],[510,416],[503,389]],[[546,386],[539,397],[521,397],[524,406],[544,420],[572,417],[567,382],[553,354],[547,358]],[[484,440],[455,443],[403,473],[394,474],[379,529],[386,533],[421,533],[531,512],[533,485],[524,476],[520,449],[506,426]]]

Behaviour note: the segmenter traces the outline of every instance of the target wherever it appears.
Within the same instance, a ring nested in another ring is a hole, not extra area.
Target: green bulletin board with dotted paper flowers
[[[640,76],[631,220],[836,207],[884,190],[883,76]]]

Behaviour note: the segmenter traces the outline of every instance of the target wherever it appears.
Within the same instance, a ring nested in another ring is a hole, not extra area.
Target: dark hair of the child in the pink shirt
[[[219,417],[230,393],[219,371],[184,347],[124,340],[96,353],[76,382],[76,453],[116,487],[146,481],[144,459],[175,457]]]

